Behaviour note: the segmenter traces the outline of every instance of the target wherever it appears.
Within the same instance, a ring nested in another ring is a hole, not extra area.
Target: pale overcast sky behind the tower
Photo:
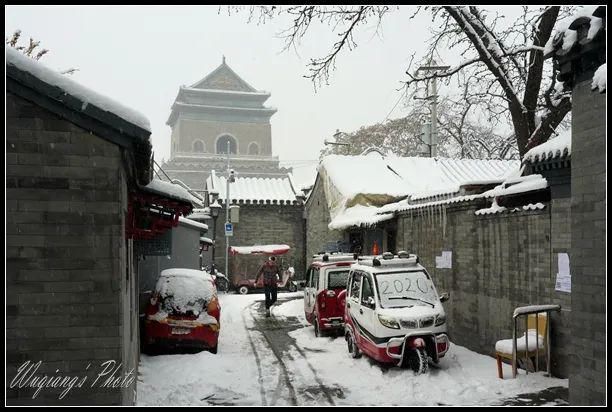
[[[292,166],[298,185],[314,179],[325,139],[383,121],[400,98],[410,56],[425,51],[428,13],[408,22],[403,6],[363,27],[358,47],[344,52],[330,85],[315,89],[309,59],[322,57],[336,41],[328,26],[315,26],[297,50],[282,52],[279,37],[290,25],[277,18],[258,25],[248,13],[218,6],[6,6],[5,35],[41,41],[41,60],[51,68],[79,69],[73,79],[147,116],[155,158],[170,154],[166,120],[179,86],[191,85],[221,64],[258,90],[271,93],[273,154]],[[446,58],[446,56],[445,56]],[[453,60],[448,57],[448,60]],[[456,63],[446,61],[447,64]],[[397,105],[391,118],[402,115]]]

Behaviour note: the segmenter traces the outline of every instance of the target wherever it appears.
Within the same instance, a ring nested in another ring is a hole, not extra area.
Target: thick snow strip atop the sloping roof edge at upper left
[[[82,86],[67,75],[50,69],[39,61],[26,57],[11,47],[6,47],[5,50],[7,66],[14,66],[23,72],[30,73],[42,82],[58,87],[66,94],[81,100],[83,102],[83,110],[85,110],[87,105],[91,104],[103,111],[111,112],[141,129],[151,131],[149,120],[136,110]]]

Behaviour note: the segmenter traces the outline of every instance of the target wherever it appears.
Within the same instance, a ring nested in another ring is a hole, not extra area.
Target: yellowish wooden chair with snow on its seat
[[[537,322],[536,322],[537,319]],[[536,324],[537,323],[537,324]],[[516,323],[515,323],[516,335]],[[537,333],[536,333],[537,331]],[[527,315],[526,332],[516,339],[516,362],[521,364],[525,371],[533,372],[539,368],[539,357],[548,354],[549,334],[548,334],[548,313],[540,312]],[[497,375],[500,379],[504,378],[502,371],[502,361],[508,360],[512,364],[512,374],[516,376],[516,363],[513,356],[513,339],[500,340],[495,344],[495,358],[497,360]],[[535,368],[532,359],[535,359]],[[547,368],[550,361],[547,357]]]

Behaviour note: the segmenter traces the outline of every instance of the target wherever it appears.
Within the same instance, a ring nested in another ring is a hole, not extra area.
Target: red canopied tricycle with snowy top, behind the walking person
[[[266,256],[276,256],[281,271],[277,281],[278,288],[289,292],[297,291],[298,285],[294,280],[295,269],[292,266],[283,269],[291,261],[286,256],[290,249],[287,245],[230,246],[230,273],[234,290],[242,295],[254,290],[263,290],[263,276],[260,276],[256,282],[257,273]]]

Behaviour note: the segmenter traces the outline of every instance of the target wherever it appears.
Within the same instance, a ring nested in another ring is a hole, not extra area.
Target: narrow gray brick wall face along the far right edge
[[[572,93],[572,405],[606,400],[606,95]]]

